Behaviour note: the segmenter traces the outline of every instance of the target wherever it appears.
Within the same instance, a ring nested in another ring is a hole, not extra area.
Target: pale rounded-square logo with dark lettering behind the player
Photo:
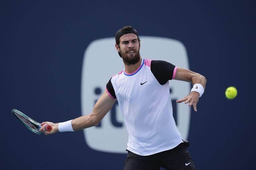
[[[189,69],[185,46],[176,40],[141,36],[142,58],[165,60],[178,67]],[[153,50],[152,50],[153,49]],[[104,38],[91,42],[85,50],[82,67],[81,106],[82,115],[90,114],[95,102],[103,94],[109,79],[124,69],[122,58],[115,49],[115,38]],[[183,139],[187,139],[190,124],[190,107],[176,104],[190,93],[187,82],[171,80],[170,97],[173,116]],[[96,127],[84,129],[87,145],[95,150],[111,153],[127,153],[128,132],[125,128],[118,103]]]

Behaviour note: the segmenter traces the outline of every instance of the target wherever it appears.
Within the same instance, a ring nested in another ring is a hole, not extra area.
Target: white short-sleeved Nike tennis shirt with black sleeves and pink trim
[[[135,72],[123,70],[108,82],[106,90],[118,100],[129,133],[127,150],[147,156],[183,142],[172,115],[169,92],[168,80],[175,77],[176,69],[165,61],[142,59]]]

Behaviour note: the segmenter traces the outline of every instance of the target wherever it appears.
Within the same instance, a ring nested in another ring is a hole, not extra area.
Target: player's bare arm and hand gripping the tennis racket
[[[80,130],[84,128],[90,128],[92,126],[98,125],[98,123],[103,119],[103,117],[110,111],[112,106],[115,103],[115,99],[109,97],[108,93],[105,91],[103,95],[99,98],[99,100],[94,105],[93,111],[91,114],[81,116],[72,121],[73,130]],[[52,126],[52,131],[48,132],[45,130],[46,125]],[[59,132],[58,128],[59,123],[52,122],[43,122],[41,124],[40,131],[44,134],[53,134]]]

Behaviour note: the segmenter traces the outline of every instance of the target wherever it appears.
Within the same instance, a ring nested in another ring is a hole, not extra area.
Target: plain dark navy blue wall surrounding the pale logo
[[[197,168],[254,167],[254,1],[1,1],[0,19],[0,169],[123,168],[125,154],[91,150],[82,130],[36,135],[11,109],[38,121],[81,116],[84,51],[126,25],[181,41],[190,69],[208,80],[191,113],[189,150]],[[224,96],[229,86],[238,89],[231,101]]]

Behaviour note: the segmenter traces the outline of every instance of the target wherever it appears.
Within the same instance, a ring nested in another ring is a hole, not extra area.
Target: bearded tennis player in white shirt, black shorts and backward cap
[[[96,126],[118,100],[129,133],[125,170],[196,169],[189,142],[182,139],[173,119],[169,80],[193,84],[190,94],[176,102],[193,105],[197,111],[205,77],[166,61],[142,58],[140,38],[131,26],[118,30],[115,39],[125,69],[110,78],[92,113],[62,123],[43,122],[40,131],[48,135]],[[46,125],[52,131],[46,131]]]

